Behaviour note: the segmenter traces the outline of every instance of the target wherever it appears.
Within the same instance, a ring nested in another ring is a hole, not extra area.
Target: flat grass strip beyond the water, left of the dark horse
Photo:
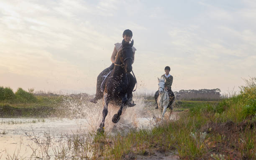
[[[86,114],[81,110],[84,105],[90,103],[89,98],[87,94],[45,94],[34,96],[33,101],[19,101],[17,97],[0,100],[0,117],[76,117],[78,114]]]

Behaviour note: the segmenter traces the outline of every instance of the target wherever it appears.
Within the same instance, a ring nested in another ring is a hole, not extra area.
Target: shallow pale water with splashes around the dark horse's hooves
[[[54,140],[59,140],[63,135],[72,135],[77,130],[83,130],[83,132],[97,130],[101,119],[101,104],[82,107],[84,112],[88,113],[87,117],[76,119],[57,117],[44,119],[0,118],[0,159],[13,159],[12,157],[19,157],[23,160],[31,159],[33,149],[36,148],[35,137],[43,139],[45,135],[51,135]],[[68,109],[72,109],[72,106],[69,106]],[[157,111],[153,110],[153,113],[151,108],[146,108],[142,102],[137,101],[136,107],[125,109],[120,121],[117,124],[113,124],[111,118],[117,111],[117,107],[109,106],[108,116],[105,120],[105,130],[107,132],[115,132],[117,130],[125,132],[131,128],[150,127],[153,122],[153,114],[157,114]],[[52,152],[50,154],[54,155]],[[168,157],[168,155],[157,154],[159,153],[156,152],[152,156],[137,157],[137,159],[153,160],[157,158],[166,159]],[[173,155],[169,156],[173,157]],[[167,159],[170,159],[170,157]]]

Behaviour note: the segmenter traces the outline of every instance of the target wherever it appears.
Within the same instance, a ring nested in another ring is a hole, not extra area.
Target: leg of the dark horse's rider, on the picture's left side
[[[102,81],[104,80],[103,76],[106,76],[114,67],[113,63],[110,67],[104,69],[100,74],[97,76],[97,86],[96,86],[96,94],[93,99],[90,100],[90,102],[97,103],[97,100],[101,99],[103,97],[102,91],[100,91],[100,86]]]

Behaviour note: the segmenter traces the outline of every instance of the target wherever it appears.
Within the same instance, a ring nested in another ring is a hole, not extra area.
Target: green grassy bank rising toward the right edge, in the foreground
[[[177,107],[187,103],[189,110],[180,113],[179,119],[126,134],[101,135],[97,142],[102,143],[103,150],[97,148],[98,152],[104,159],[122,159],[130,153],[167,154],[171,150],[177,150],[185,160],[255,159],[255,88],[247,85],[241,94],[220,102],[181,101]]]

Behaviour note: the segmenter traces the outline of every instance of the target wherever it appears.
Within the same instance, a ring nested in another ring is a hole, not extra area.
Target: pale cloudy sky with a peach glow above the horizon
[[[123,30],[133,31],[137,92],[232,92],[256,77],[256,1],[1,0],[0,86],[95,94]]]

